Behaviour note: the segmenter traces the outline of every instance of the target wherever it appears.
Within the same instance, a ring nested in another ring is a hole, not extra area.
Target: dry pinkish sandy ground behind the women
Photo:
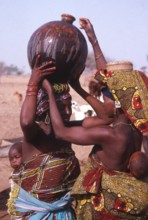
[[[82,86],[87,89],[89,75],[81,77]],[[15,93],[22,94],[24,99],[28,76],[0,76],[0,219],[9,219],[6,213],[6,200],[9,192],[11,167],[7,157],[8,149],[13,142],[22,139],[19,115],[22,102]],[[86,104],[72,89],[73,100]],[[22,100],[23,101],[23,100]],[[86,160],[92,146],[75,146],[73,149],[80,160]]]

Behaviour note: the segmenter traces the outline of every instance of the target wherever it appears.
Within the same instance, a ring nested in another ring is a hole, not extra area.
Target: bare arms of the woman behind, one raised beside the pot
[[[96,67],[98,70],[104,69],[106,67],[106,60],[99,46],[99,42],[96,38],[94,28],[90,23],[89,19],[80,18],[80,27],[84,29],[87,37],[92,44],[94,50],[94,56],[96,59]],[[93,97],[93,95],[86,92],[80,84],[79,79],[70,81],[71,87],[83,98],[86,102],[88,102],[94,111],[97,114],[97,117],[88,117],[83,121],[83,127],[91,127],[96,125],[110,124],[114,119],[114,109],[115,103],[110,98],[104,96],[104,103],[100,100]],[[98,81],[98,89],[104,87],[104,84],[101,81]]]

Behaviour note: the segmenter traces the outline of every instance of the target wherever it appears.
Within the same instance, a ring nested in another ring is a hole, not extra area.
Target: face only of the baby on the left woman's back
[[[9,154],[9,160],[11,167],[17,170],[22,163],[22,154],[17,149],[13,149]]]

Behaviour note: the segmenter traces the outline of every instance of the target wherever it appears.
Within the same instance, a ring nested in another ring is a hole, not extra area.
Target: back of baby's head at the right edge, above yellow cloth
[[[137,179],[148,176],[148,158],[146,154],[141,151],[133,153],[129,160],[129,169]]]

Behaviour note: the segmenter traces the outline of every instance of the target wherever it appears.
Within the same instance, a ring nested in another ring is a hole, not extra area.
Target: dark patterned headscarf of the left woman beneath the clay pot
[[[67,83],[55,83],[52,85],[54,93],[55,93],[55,99],[56,101],[62,101],[67,98],[71,98],[71,95],[69,94],[70,88]],[[37,95],[37,111],[36,115],[37,117],[42,117],[42,115],[49,110],[49,98],[48,94],[45,90],[39,89],[38,95]]]

